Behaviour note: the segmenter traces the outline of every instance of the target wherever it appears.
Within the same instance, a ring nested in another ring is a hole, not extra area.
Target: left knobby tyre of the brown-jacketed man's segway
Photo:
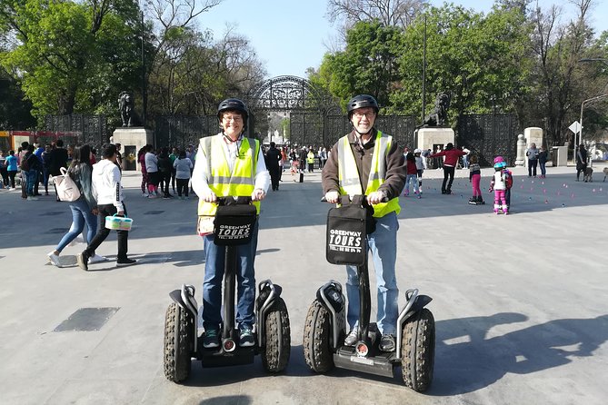
[[[315,372],[334,368],[334,355],[330,346],[330,314],[321,302],[314,300],[308,309],[304,324],[304,360]]]

